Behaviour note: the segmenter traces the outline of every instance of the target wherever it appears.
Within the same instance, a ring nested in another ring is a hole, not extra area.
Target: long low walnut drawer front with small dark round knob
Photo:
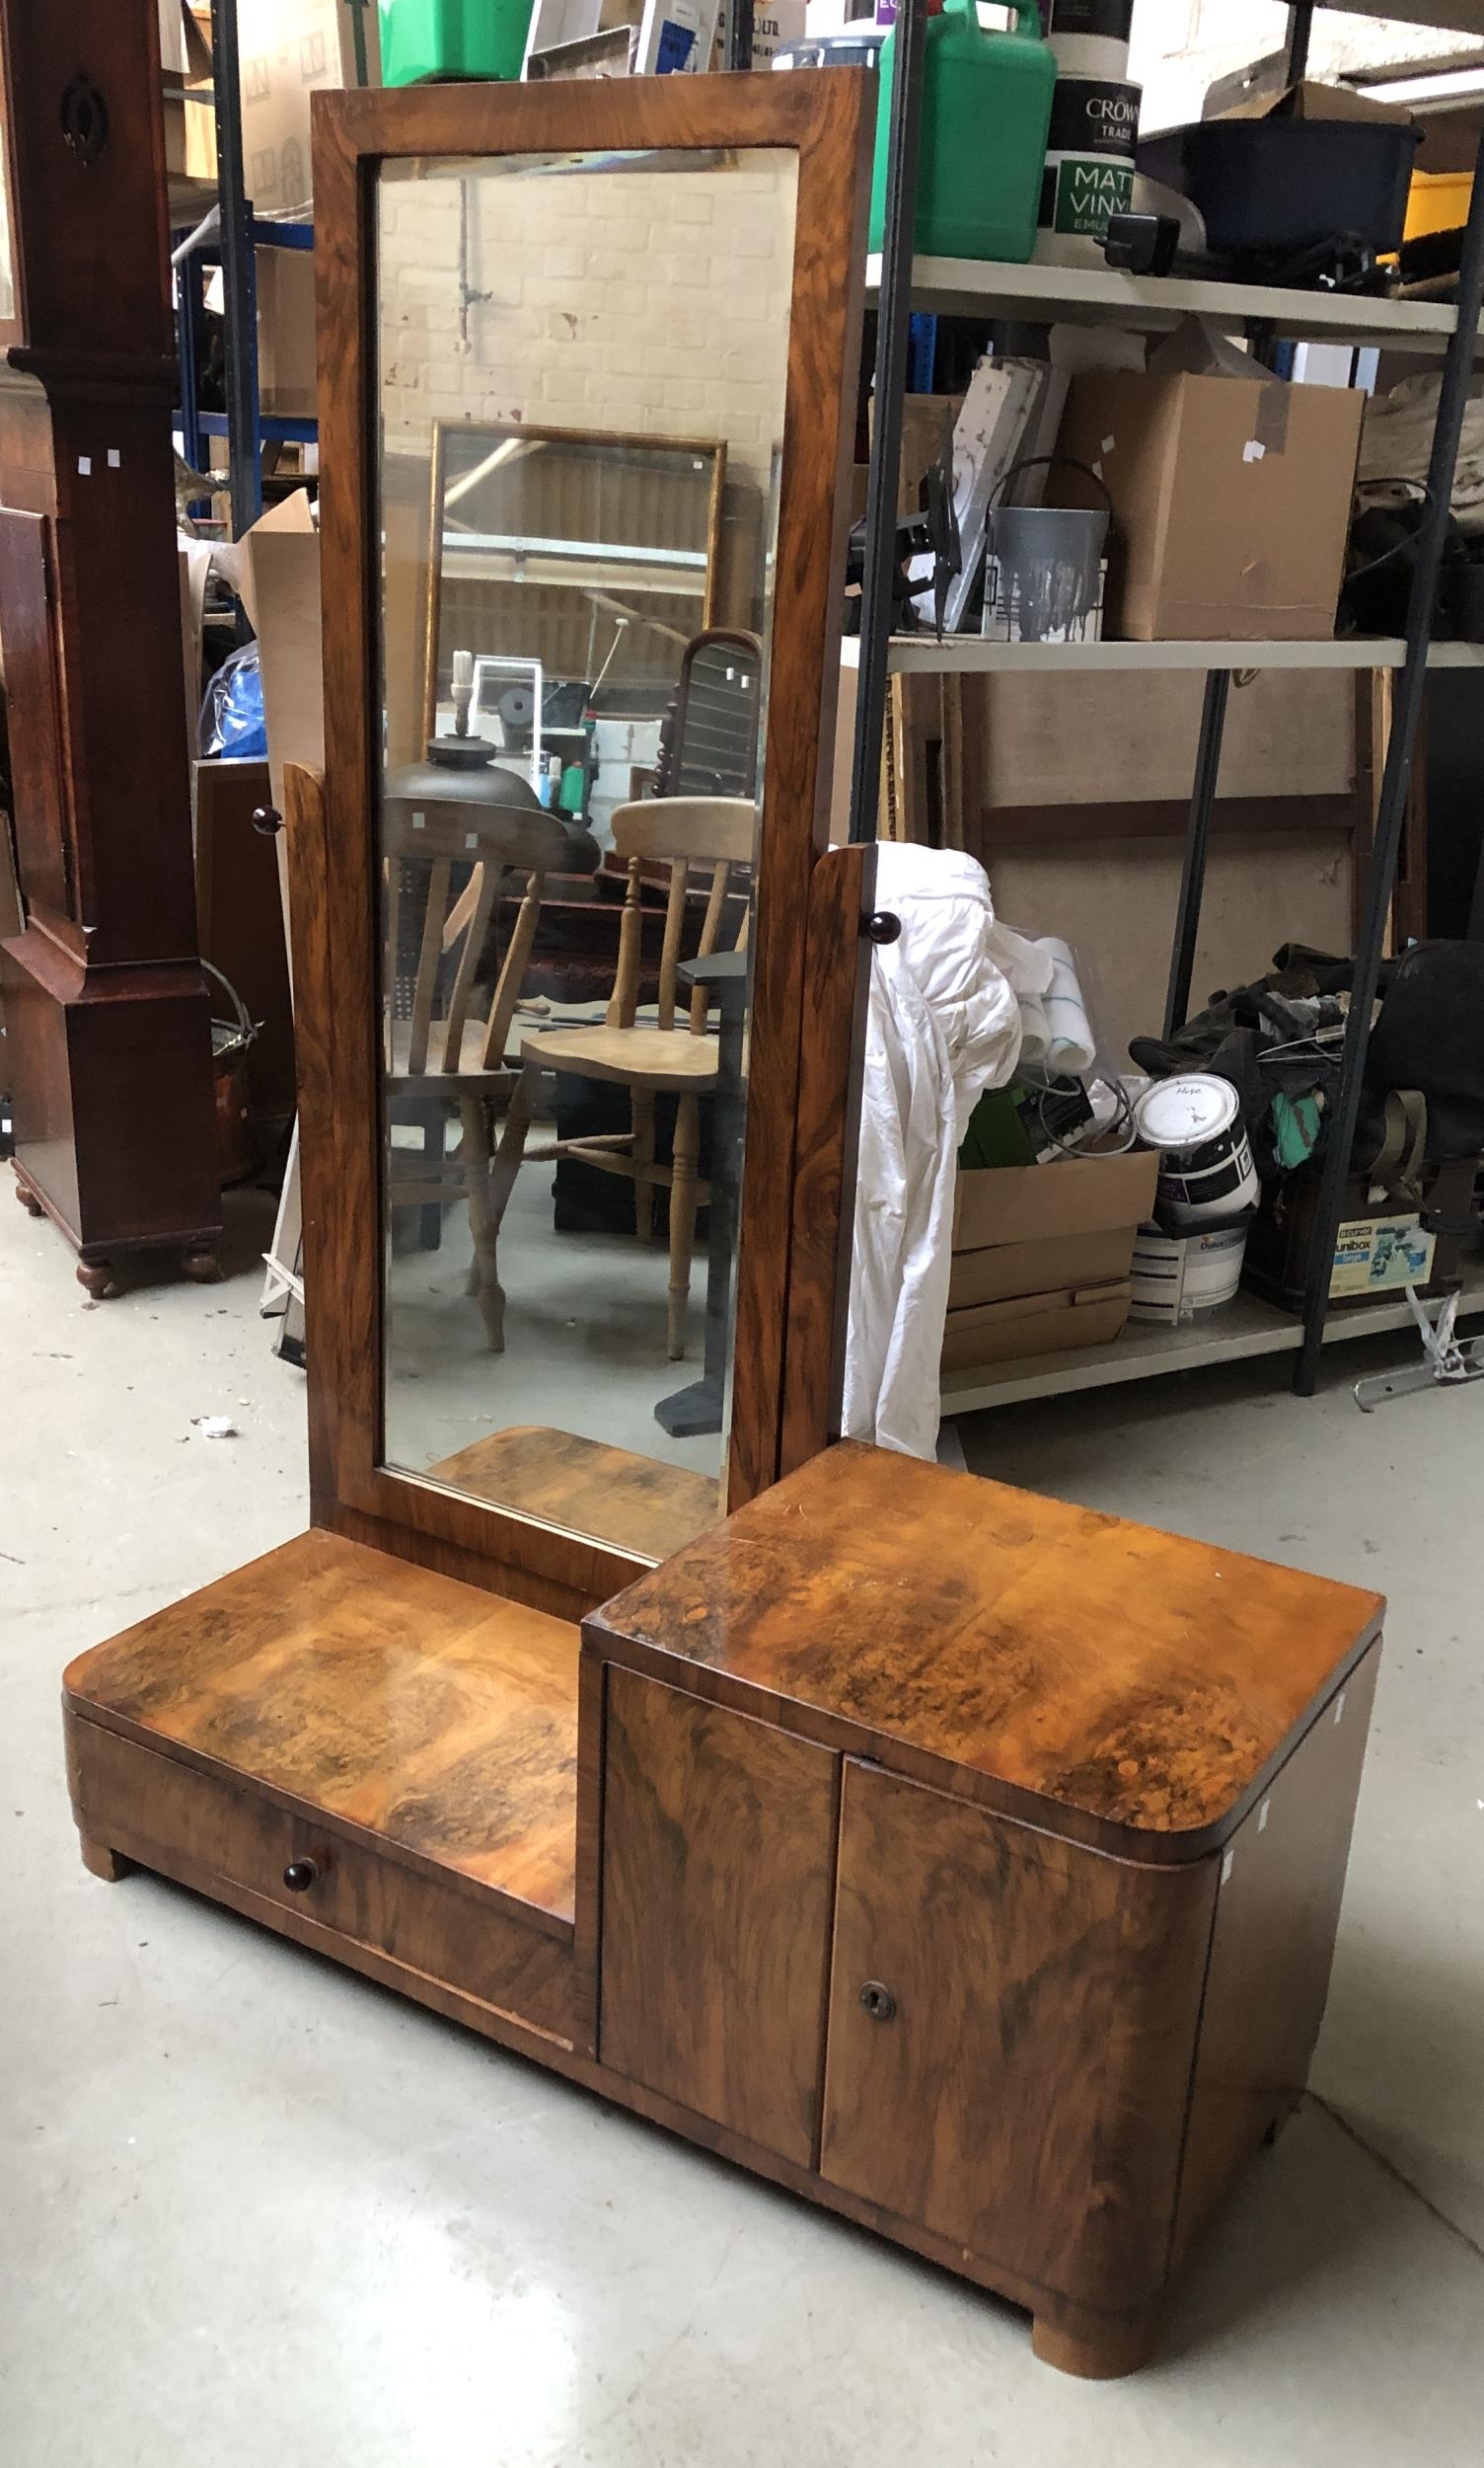
[[[325,1819],[293,1816],[249,1784],[69,1715],[76,1821],[141,1868],[212,1893],[237,1886],[286,1920],[316,1923],[461,1997],[569,2039],[572,1947],[528,1928],[478,1890],[444,1886],[387,1851],[348,1841]],[[306,1876],[306,1868],[311,1871]],[[306,1876],[303,1890],[286,1871]],[[417,1994],[417,1982],[407,1982]]]

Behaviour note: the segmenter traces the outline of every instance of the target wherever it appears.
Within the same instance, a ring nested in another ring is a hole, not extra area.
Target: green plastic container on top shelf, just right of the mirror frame
[[[885,163],[897,30],[880,59],[870,247],[885,225]],[[922,153],[917,168],[919,257],[998,257],[1023,267],[1035,247],[1040,175],[1055,94],[1055,52],[1040,12],[1016,10],[1013,35],[986,35],[974,0],[944,0],[927,20]]]

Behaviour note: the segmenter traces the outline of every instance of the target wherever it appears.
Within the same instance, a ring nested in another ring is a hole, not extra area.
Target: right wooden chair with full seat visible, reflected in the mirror
[[[614,807],[614,847],[629,861],[629,891],[619,928],[619,970],[604,1024],[597,1029],[552,1029],[520,1039],[520,1079],[500,1135],[491,1177],[493,1234],[500,1232],[505,1204],[525,1155],[525,1135],[535,1118],[542,1074],[569,1071],[577,1079],[616,1081],[629,1088],[631,1130],[594,1133],[579,1140],[555,1140],[532,1157],[582,1157],[604,1175],[634,1182],[634,1224],[641,1239],[653,1229],[656,1185],[671,1192],[671,1362],[685,1352],[685,1303],[690,1296],[690,1251],[695,1246],[695,1209],[710,1199],[698,1180],[700,1098],[715,1088],[717,1039],[707,1034],[707,997],[703,990],[678,1007],[675,967],[690,866],[710,866],[710,891],[700,926],[700,953],[717,950],[732,866],[752,866],[757,807],[752,797],[648,797],[641,805]],[[656,1019],[638,1019],[638,930],[641,881],[646,864],[668,864],[666,943]],[[742,935],[747,918],[742,921]],[[675,1138],[671,1165],[656,1162],[656,1096],[675,1096]]]

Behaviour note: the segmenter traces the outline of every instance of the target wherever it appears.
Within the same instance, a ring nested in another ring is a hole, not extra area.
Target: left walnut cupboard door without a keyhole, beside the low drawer
[[[609,1666],[604,2066],[813,2162],[836,1757]]]

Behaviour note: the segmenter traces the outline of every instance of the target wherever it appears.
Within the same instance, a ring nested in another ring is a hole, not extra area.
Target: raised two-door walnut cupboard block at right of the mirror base
[[[1129,2372],[1304,2088],[1378,1612],[831,1449],[584,1624],[604,2068]]]

